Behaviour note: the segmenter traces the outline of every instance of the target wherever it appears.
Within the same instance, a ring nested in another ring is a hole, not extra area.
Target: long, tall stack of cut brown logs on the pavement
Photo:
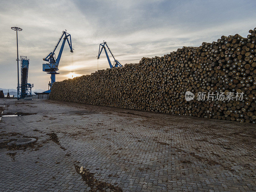
[[[55,82],[50,99],[255,123],[256,28],[249,33]]]

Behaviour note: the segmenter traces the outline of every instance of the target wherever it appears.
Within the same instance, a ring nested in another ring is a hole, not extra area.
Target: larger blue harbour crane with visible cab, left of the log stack
[[[64,36],[64,38],[63,38],[63,42],[62,42],[61,47],[60,47],[60,52],[59,52],[58,57],[56,59],[55,51],[56,51],[58,45],[60,44],[60,41],[61,41],[63,36]],[[68,37],[69,37],[70,40],[68,40]],[[52,88],[52,84],[55,82],[55,75],[60,74],[57,71],[59,70],[58,66],[59,66],[59,62],[60,62],[60,57],[61,57],[61,54],[63,52],[63,48],[64,48],[66,40],[68,41],[70,52],[73,53],[72,43],[71,43],[71,35],[68,34],[67,31],[65,30],[65,31],[62,31],[62,35],[60,36],[60,39],[59,39],[58,43],[55,45],[55,48],[53,49],[53,51],[50,52],[43,59],[44,61],[49,62],[49,63],[43,63],[43,71],[47,72],[48,74],[51,74],[51,83],[49,82],[49,84],[48,84],[50,86],[50,90]]]

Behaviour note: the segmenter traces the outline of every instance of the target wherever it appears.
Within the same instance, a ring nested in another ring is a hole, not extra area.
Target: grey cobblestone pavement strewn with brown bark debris
[[[38,99],[0,99],[0,110],[5,101],[3,115],[28,114],[2,117],[0,191],[93,191],[75,166],[111,184],[103,191],[256,191],[255,124]],[[4,142],[26,137],[37,141]]]

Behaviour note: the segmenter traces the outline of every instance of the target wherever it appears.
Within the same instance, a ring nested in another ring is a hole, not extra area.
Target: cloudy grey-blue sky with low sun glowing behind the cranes
[[[222,35],[247,36],[256,27],[256,1],[11,1],[0,6],[0,88],[17,86],[16,34],[19,55],[30,59],[29,83],[48,89],[50,75],[42,71],[42,58],[52,51],[63,30],[72,37],[74,76],[98,69],[97,54],[103,40],[122,64],[142,57],[163,56],[182,46],[199,46]],[[58,50],[59,51],[59,50]],[[57,51],[57,53],[58,53]],[[109,68],[102,53],[99,69]],[[113,60],[112,60],[113,62]],[[71,77],[68,44],[56,81]]]

